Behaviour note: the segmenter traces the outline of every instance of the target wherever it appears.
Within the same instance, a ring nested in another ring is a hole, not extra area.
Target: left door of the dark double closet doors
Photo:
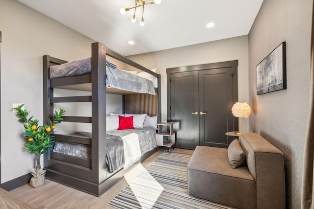
[[[198,72],[178,72],[170,75],[170,116],[175,121],[176,146],[195,149],[199,145]]]

